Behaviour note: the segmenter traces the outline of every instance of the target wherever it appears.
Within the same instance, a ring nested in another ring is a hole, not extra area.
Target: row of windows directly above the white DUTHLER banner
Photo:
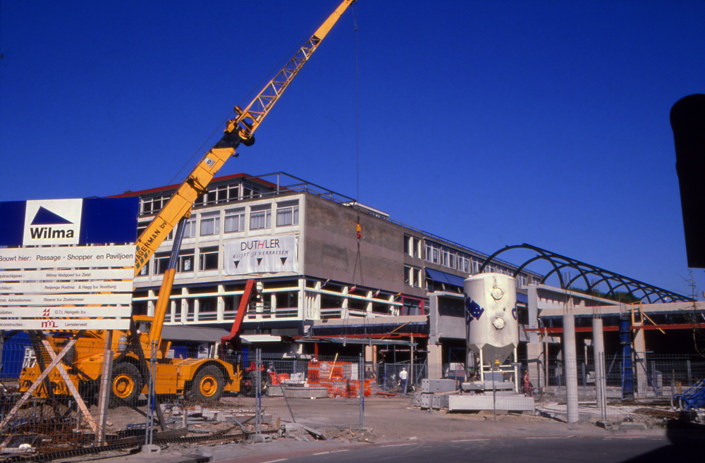
[[[196,216],[200,216],[197,228]],[[245,231],[245,208],[226,209],[223,215],[223,232],[234,233]],[[299,224],[299,202],[286,201],[276,203],[276,226],[292,226]],[[147,223],[137,228],[137,235],[147,228]],[[250,230],[266,230],[271,228],[271,204],[262,206],[252,206],[250,208]],[[193,238],[196,234],[200,236],[220,235],[221,233],[221,211],[204,212],[203,214],[192,214],[186,221],[183,230],[183,237]],[[169,233],[167,240],[173,239],[173,231]]]

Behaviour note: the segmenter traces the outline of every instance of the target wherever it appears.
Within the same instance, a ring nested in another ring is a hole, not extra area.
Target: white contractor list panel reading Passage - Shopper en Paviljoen
[[[133,245],[0,249],[0,329],[127,330],[134,266]]]

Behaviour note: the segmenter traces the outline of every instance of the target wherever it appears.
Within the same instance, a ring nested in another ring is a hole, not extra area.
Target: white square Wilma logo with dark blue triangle
[[[82,199],[27,201],[25,245],[78,245]]]

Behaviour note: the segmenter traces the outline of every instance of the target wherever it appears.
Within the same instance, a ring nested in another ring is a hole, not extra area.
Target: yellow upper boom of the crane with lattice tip
[[[240,143],[251,146],[255,142],[253,136],[264,116],[269,113],[272,106],[281,97],[286,87],[299,73],[321,40],[326,37],[338,18],[355,0],[344,0],[336,11],[314,32],[303,47],[290,59],[272,80],[264,86],[257,97],[252,100],[245,110],[235,107],[234,119],[228,121],[223,138],[203,156],[186,180],[181,183],[176,193],[169,199],[164,209],[154,217],[147,229],[137,238],[135,251],[135,275],[140,273],[149,258],[157,250],[161,242],[178,224],[180,218],[189,213],[191,206],[199,195],[207,192],[207,187],[214,175],[220,170],[223,163],[235,154],[235,149]]]

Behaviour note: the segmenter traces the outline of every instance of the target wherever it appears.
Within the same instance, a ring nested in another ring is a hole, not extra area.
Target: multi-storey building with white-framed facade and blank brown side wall
[[[142,230],[177,186],[118,196],[140,197]],[[154,313],[172,244],[170,235],[135,278],[136,314]],[[262,283],[264,304],[250,307],[243,334],[260,340],[316,334],[329,320],[345,329],[335,319],[398,323],[391,317],[426,315],[429,292],[462,292],[486,257],[285,173],[228,175],[214,178],[185,224],[166,324],[229,329],[247,278]],[[485,271],[515,269],[495,261]],[[524,271],[517,288],[540,278]]]

